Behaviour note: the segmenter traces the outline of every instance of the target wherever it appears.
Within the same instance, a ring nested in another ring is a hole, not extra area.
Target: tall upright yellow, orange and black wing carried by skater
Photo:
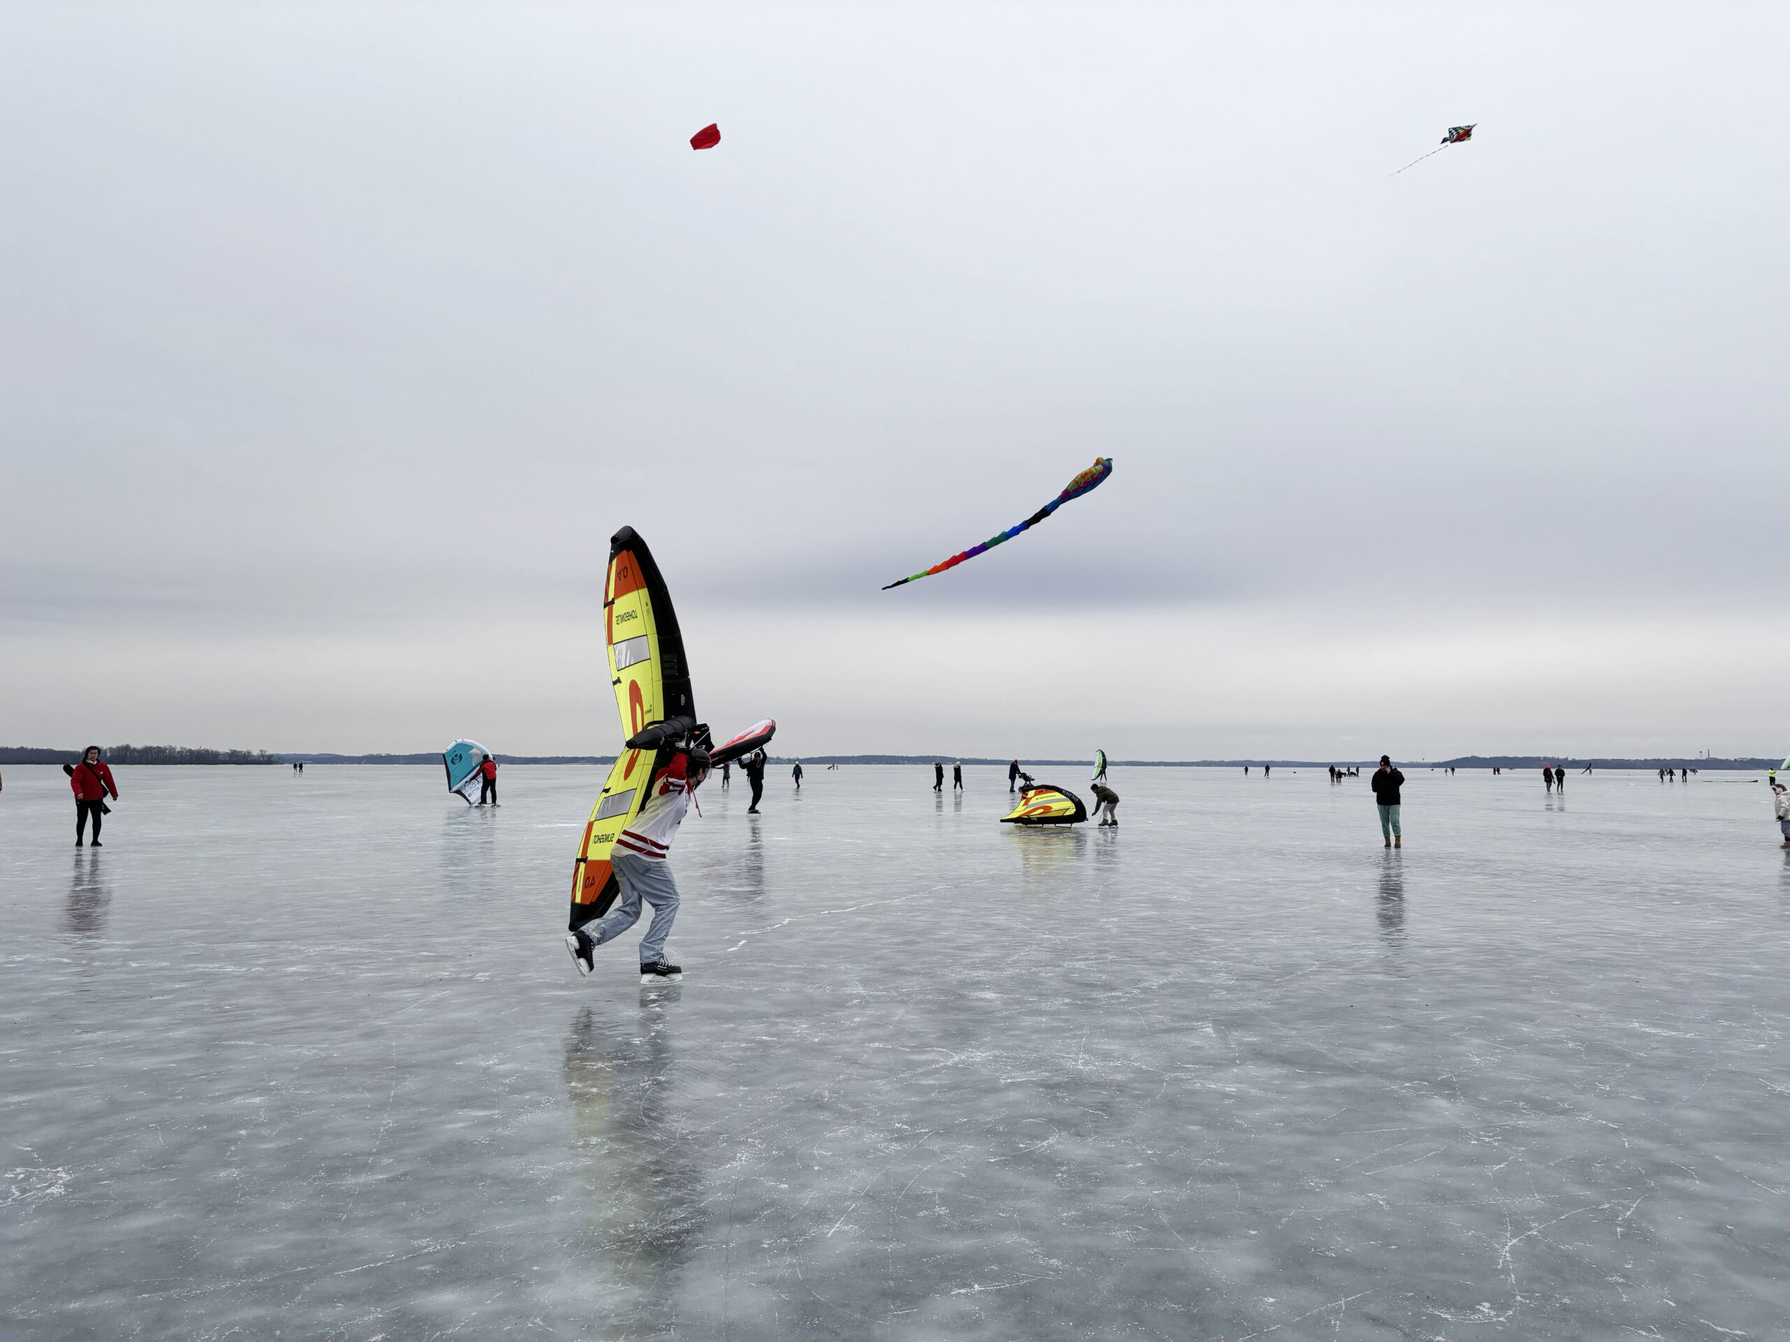
[[[684,635],[677,626],[671,594],[653,564],[653,553],[632,526],[609,540],[609,578],[603,583],[603,633],[609,646],[609,680],[621,714],[621,739],[632,741],[652,723],[682,719],[696,725],[696,703],[684,660]],[[677,734],[678,737],[682,732]],[[675,743],[673,743],[675,744]],[[609,848],[646,802],[657,768],[657,750],[621,748],[601,796],[584,827],[584,843],[571,879],[571,918],[576,932],[609,913],[619,888],[609,864]]]

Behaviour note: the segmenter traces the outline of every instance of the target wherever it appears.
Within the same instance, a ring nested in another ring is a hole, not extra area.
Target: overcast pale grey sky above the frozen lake
[[[0,744],[612,752],[626,522],[791,753],[1790,750],[1786,39],[5,5]]]

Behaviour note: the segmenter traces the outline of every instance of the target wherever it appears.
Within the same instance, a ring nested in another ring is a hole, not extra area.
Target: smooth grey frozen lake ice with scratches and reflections
[[[1790,1335],[1763,782],[1405,768],[709,784],[650,990],[600,768],[9,768],[4,1335]]]

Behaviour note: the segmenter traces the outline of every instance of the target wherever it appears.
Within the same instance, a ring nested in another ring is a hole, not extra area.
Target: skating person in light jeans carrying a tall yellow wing
[[[666,938],[677,920],[677,882],[666,857],[677,827],[689,812],[689,798],[709,777],[709,752],[689,746],[673,752],[671,760],[652,782],[641,814],[616,836],[609,862],[621,884],[621,898],[601,918],[567,932],[566,948],[578,963],[578,973],[596,968],[591,956],[605,941],[614,941],[641,920],[641,904],[653,905],[653,922],[641,938],[641,982],[677,982],[684,970],[666,961]]]

